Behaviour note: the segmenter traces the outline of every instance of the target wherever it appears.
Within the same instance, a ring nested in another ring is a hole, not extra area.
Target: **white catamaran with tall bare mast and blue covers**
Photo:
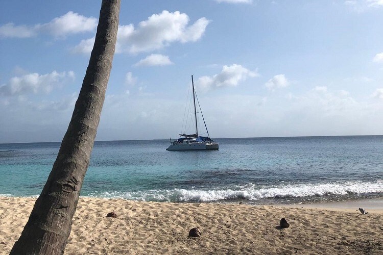
[[[207,149],[218,149],[218,143],[214,142],[209,138],[209,132],[207,131],[207,126],[205,123],[205,119],[203,118],[201,106],[198,102],[198,97],[196,94],[196,90],[194,89],[194,81],[192,75],[192,86],[193,86],[193,104],[194,104],[194,119],[196,122],[196,133],[192,135],[186,135],[185,133],[180,134],[181,138],[178,138],[175,141],[170,139],[171,145],[166,148],[166,150],[207,150]],[[203,123],[205,124],[205,129],[207,136],[199,136],[198,135],[198,124],[197,124],[197,110],[196,110],[196,97],[198,106],[200,108],[200,112],[202,115]],[[182,132],[181,132],[182,133]]]

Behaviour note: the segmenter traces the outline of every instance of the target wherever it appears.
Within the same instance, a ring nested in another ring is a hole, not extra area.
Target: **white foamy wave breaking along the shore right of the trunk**
[[[254,184],[211,190],[150,190],[138,192],[102,192],[89,196],[113,197],[143,201],[217,201],[226,199],[258,200],[280,197],[312,197],[383,192],[383,180],[376,182],[334,182],[318,184],[281,184],[259,187]]]

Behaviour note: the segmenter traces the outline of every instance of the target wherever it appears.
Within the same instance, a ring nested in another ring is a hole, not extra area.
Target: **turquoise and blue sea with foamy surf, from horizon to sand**
[[[300,203],[383,197],[383,136],[98,141],[82,196],[145,201]],[[0,196],[40,194],[60,143],[0,144]]]

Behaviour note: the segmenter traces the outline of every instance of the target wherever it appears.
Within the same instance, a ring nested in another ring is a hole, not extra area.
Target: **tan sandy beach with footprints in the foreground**
[[[33,204],[0,197],[0,254],[11,250]],[[118,217],[106,218],[112,211]],[[280,229],[282,217],[289,228]],[[193,227],[201,237],[188,237]],[[383,211],[80,198],[65,254],[161,253],[383,254]]]

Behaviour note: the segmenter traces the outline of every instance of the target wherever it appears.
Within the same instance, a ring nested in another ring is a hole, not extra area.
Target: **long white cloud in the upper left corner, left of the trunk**
[[[48,23],[27,25],[14,25],[7,23],[0,27],[0,37],[3,38],[28,38],[38,33],[45,32],[54,37],[65,37],[68,34],[94,32],[97,28],[97,18],[85,17],[72,11],[52,19]]]

